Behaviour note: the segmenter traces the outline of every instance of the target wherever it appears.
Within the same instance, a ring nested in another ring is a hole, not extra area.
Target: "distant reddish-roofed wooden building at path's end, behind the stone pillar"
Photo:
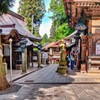
[[[70,52],[72,47],[76,45],[74,36],[77,33],[77,30],[73,32],[71,35],[63,38],[67,47],[66,47],[66,54],[67,51]],[[50,63],[57,63],[60,59],[60,47],[62,40],[58,40],[56,42],[47,43],[43,46],[42,50],[49,54]]]

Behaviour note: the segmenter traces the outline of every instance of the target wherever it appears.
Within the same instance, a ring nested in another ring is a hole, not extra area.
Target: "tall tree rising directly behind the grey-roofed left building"
[[[44,1],[20,0],[18,13],[26,18],[28,29],[32,31],[33,34],[35,34],[35,32],[38,32],[39,34],[39,28],[37,27],[40,26],[45,13]]]

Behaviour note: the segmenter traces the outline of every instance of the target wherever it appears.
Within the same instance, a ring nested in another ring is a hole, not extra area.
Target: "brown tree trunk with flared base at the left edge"
[[[4,66],[2,63],[2,45],[1,45],[1,36],[0,36],[0,91],[6,90],[10,87],[10,84],[8,83],[6,79],[6,74],[4,71]]]

